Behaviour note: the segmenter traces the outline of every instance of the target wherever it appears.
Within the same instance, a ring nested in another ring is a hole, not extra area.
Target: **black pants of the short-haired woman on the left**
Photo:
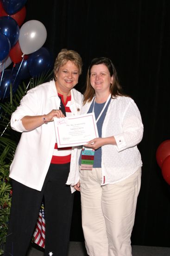
[[[13,196],[4,256],[25,256],[33,234],[39,209],[45,204],[45,256],[66,256],[71,225],[73,199],[65,185],[68,164],[50,164],[41,191],[13,180]]]

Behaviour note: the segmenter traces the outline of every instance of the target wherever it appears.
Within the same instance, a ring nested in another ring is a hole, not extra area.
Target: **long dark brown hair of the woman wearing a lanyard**
[[[99,64],[104,64],[108,68],[110,76],[113,76],[113,83],[110,85],[111,97],[116,98],[117,96],[128,96],[123,93],[123,89],[119,83],[118,75],[112,61],[105,57],[94,58],[91,61],[90,66],[88,67],[88,73],[86,77],[86,90],[84,92],[84,104],[87,101],[91,101],[95,95],[94,88],[90,84],[90,75],[91,75],[91,68],[94,65],[99,65]]]

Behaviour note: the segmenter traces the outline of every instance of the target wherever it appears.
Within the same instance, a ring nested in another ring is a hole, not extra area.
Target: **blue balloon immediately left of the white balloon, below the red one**
[[[13,47],[19,39],[19,25],[10,16],[0,17],[0,33],[7,36]]]

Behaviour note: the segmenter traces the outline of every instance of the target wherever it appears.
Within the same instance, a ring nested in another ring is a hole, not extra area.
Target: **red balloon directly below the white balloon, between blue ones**
[[[22,61],[22,59],[23,59],[22,55],[23,55],[23,53],[21,52],[19,41],[17,41],[17,43],[9,51],[9,56],[14,64],[13,66],[15,66],[15,64]],[[27,59],[28,59],[28,55],[25,54],[24,60],[27,60]]]

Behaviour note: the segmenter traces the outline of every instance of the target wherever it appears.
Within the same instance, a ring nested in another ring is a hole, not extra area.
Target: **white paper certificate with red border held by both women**
[[[54,125],[58,148],[84,145],[99,137],[94,113],[54,117]]]

